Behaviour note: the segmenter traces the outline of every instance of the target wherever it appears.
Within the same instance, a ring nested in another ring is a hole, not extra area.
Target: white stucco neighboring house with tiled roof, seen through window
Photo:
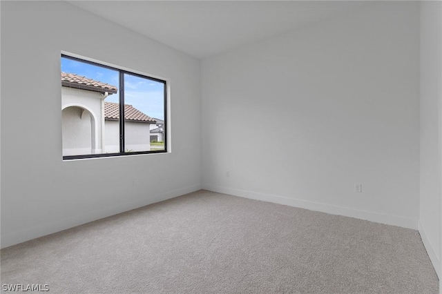
[[[61,72],[63,155],[119,152],[119,104],[105,102],[117,87]],[[151,150],[152,117],[124,106],[126,150]]]

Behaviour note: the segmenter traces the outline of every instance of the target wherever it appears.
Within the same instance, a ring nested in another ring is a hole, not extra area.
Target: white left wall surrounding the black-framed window
[[[62,161],[61,50],[168,79],[172,152]],[[200,189],[197,59],[68,3],[2,1],[1,73],[1,246]]]

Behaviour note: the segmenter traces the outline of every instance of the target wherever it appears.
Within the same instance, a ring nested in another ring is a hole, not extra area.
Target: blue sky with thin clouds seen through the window
[[[61,57],[61,71],[95,79],[119,89],[118,72],[90,63]],[[133,75],[124,75],[124,103],[131,104],[149,117],[164,119],[164,84]],[[105,101],[118,102],[119,92]]]

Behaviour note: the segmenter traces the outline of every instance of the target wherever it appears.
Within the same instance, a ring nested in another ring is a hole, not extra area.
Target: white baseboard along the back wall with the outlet
[[[278,195],[269,195],[263,193],[257,193],[247,190],[239,190],[234,188],[227,188],[222,186],[214,186],[203,184],[202,188],[205,190],[211,190],[213,192],[225,193],[234,196],[262,200],[265,202],[273,202],[277,204],[284,204],[288,206],[294,206],[298,208],[305,208],[309,210],[320,211],[322,213],[329,213],[332,215],[343,215],[345,217],[355,217],[358,219],[365,219],[370,222],[378,222],[381,224],[390,224],[392,226],[401,226],[403,228],[412,228],[417,230],[418,221],[416,219],[407,219],[405,217],[397,217],[395,215],[383,215],[380,213],[372,213],[364,210],[357,210],[353,208],[347,208],[342,206],[334,206],[330,204],[323,204],[318,202],[311,202],[302,199],[294,199]]]

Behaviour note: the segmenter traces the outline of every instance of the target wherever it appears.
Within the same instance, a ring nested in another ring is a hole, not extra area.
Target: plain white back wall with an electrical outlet
[[[203,188],[417,228],[419,3],[204,60],[202,136]]]

